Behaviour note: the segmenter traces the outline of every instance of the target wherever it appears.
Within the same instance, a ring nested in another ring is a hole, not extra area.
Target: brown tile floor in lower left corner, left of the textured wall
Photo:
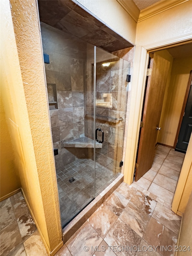
[[[0,255],[47,255],[22,192],[1,201],[0,214]]]

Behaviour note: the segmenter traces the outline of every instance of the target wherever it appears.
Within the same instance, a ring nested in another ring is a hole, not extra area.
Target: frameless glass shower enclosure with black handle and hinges
[[[130,62],[41,23],[61,223],[120,173]]]

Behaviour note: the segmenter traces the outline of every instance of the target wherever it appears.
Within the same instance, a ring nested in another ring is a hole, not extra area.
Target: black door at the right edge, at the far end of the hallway
[[[187,86],[184,113],[182,111],[182,123],[179,131],[179,137],[176,144],[176,151],[186,153],[189,144],[190,135],[192,132],[192,71],[190,71],[189,82]],[[188,92],[189,89],[189,92]]]

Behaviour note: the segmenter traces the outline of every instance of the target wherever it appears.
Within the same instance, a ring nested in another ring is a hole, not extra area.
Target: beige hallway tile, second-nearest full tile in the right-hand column
[[[155,184],[160,185],[163,188],[168,189],[171,192],[175,192],[177,181],[174,179],[171,179],[169,177],[166,177],[160,173],[157,173],[155,176],[155,179],[153,180]],[[162,198],[163,199],[163,198]]]

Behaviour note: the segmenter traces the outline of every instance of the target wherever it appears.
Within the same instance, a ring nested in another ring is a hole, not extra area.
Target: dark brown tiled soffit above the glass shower
[[[38,5],[41,21],[85,42],[110,52],[133,46],[73,1],[39,0]]]

